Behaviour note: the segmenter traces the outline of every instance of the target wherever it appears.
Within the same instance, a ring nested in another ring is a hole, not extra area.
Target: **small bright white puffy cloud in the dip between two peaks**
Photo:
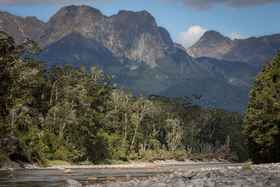
[[[181,43],[186,48],[193,46],[200,37],[207,32],[207,29],[202,29],[199,25],[191,26],[186,32],[179,33],[179,43]]]

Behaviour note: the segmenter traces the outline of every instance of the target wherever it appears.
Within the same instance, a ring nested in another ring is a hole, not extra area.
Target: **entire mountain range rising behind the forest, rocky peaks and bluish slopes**
[[[0,11],[0,30],[36,41],[47,67],[97,65],[112,85],[139,96],[202,95],[199,104],[244,113],[252,78],[280,48],[280,35],[232,41],[205,32],[190,48],[174,43],[147,11],[106,16],[90,6],[66,6],[48,22]]]

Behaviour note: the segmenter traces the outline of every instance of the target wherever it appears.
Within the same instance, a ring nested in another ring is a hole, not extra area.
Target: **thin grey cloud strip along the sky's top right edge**
[[[258,6],[262,4],[280,3],[280,0],[170,0],[170,1],[181,1],[184,6],[196,10],[208,10],[214,8],[218,4],[225,4],[236,8],[244,6]]]

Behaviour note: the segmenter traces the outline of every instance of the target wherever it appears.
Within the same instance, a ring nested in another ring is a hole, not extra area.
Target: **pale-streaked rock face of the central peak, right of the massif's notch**
[[[155,19],[146,11],[119,11],[117,15],[99,20],[86,30],[120,62],[127,57],[131,62],[130,69],[137,69],[141,62],[154,68],[157,66],[155,61],[165,56],[163,39]]]

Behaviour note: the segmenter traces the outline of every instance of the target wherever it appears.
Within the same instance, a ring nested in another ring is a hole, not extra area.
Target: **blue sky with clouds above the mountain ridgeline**
[[[279,0],[0,0],[0,10],[23,18],[35,15],[45,22],[59,8],[71,4],[92,6],[107,16],[120,10],[146,10],[155,17],[159,26],[169,31],[175,42],[190,46],[206,30],[212,29],[232,39],[279,34],[279,2]]]

